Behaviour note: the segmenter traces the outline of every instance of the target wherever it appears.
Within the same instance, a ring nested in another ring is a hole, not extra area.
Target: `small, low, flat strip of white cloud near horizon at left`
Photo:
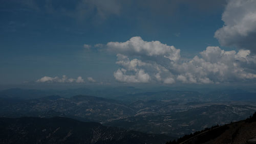
[[[36,82],[38,83],[84,83],[84,80],[82,79],[82,77],[78,77],[77,79],[73,79],[73,78],[67,78],[67,76],[63,75],[62,78],[59,77],[42,77],[40,79],[38,79]]]

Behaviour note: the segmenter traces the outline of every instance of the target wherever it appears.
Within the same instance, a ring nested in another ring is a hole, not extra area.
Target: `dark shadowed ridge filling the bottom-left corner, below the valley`
[[[0,143],[165,143],[169,138],[65,117],[0,118]]]

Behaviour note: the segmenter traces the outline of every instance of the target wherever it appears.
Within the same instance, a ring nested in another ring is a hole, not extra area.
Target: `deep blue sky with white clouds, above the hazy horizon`
[[[0,0],[0,84],[255,85],[255,7]]]

